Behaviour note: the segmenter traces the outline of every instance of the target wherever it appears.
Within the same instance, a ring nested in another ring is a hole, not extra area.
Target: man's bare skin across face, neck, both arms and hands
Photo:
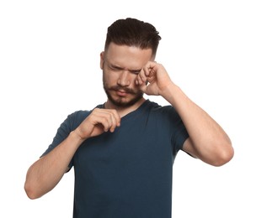
[[[185,152],[213,166],[232,159],[234,151],[227,133],[173,83],[163,65],[154,61],[151,49],[111,43],[100,54],[100,67],[104,90],[109,96],[104,109],[94,109],[51,153],[30,166],[24,184],[30,199],[45,195],[58,184],[84,141],[120,127],[121,117],[146,101],[142,93],[162,96],[175,107],[189,132],[184,142]]]

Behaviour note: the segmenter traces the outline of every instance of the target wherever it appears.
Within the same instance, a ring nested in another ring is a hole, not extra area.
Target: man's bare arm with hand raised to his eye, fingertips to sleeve
[[[214,166],[232,159],[234,151],[227,133],[173,83],[163,65],[148,62],[137,76],[136,84],[147,95],[163,96],[179,113],[189,133],[183,147],[185,152]]]

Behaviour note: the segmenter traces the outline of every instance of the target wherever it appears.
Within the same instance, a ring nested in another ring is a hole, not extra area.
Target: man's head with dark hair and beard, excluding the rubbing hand
[[[136,76],[155,59],[160,39],[152,24],[135,18],[119,19],[109,26],[104,52],[100,54],[109,104],[127,107],[142,99]]]

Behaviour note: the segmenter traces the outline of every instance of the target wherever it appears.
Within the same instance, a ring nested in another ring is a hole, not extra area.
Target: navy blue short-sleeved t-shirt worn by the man
[[[89,113],[69,115],[45,153]],[[70,163],[75,170],[73,217],[170,218],[173,161],[188,137],[173,106],[147,100],[122,117],[115,132],[86,140]]]

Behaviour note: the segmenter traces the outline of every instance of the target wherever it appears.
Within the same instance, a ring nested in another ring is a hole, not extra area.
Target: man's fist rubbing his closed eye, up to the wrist
[[[165,89],[173,84],[163,65],[149,61],[137,75],[136,85],[148,96],[162,96]]]

